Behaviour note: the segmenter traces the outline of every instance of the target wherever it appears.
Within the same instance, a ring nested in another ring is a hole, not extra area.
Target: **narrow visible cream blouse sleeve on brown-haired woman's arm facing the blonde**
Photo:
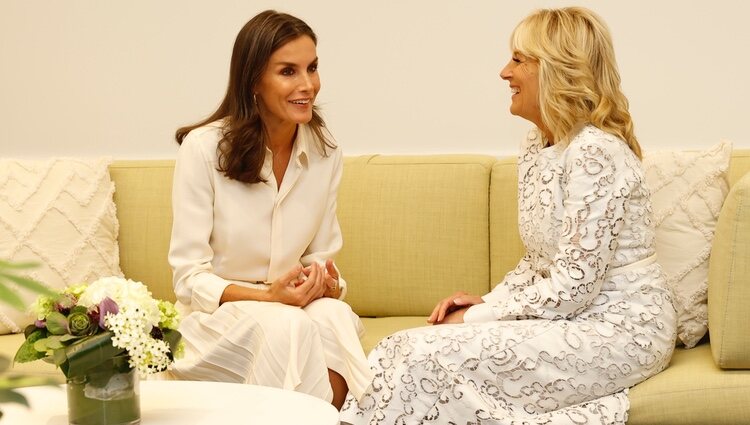
[[[323,263],[329,258],[334,258],[336,254],[341,250],[343,246],[343,238],[341,236],[341,227],[336,216],[338,189],[341,183],[341,176],[343,174],[344,160],[341,149],[336,149],[331,152],[334,156],[334,170],[331,175],[331,180],[328,186],[328,195],[325,204],[325,210],[323,212],[323,218],[320,221],[320,227],[315,233],[310,245],[305,250],[300,262],[307,266],[312,262]],[[339,272],[339,287],[341,293],[339,299],[344,299],[346,296],[346,281]]]

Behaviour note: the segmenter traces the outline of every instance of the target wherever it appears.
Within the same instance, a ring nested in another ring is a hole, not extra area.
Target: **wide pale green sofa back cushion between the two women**
[[[337,264],[361,316],[426,316],[437,301],[489,290],[484,155],[347,157]]]

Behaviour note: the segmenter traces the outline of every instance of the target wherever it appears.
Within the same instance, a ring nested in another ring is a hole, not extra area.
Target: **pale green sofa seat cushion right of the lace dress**
[[[628,425],[750,423],[750,370],[722,370],[709,344],[677,348],[663,372],[630,389]]]

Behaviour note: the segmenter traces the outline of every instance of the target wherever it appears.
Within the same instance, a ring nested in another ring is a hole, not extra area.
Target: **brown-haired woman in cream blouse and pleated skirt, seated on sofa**
[[[177,130],[169,262],[186,352],[172,373],[340,407],[371,373],[332,260],[342,156],[315,106],[316,43],[300,19],[258,14],[237,36],[219,108]]]

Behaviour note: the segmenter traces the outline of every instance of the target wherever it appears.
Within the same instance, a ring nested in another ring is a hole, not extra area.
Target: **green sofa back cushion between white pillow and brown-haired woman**
[[[175,300],[167,262],[173,172],[172,160],[115,161],[109,167],[120,222],[120,267],[155,298],[169,301]]]

